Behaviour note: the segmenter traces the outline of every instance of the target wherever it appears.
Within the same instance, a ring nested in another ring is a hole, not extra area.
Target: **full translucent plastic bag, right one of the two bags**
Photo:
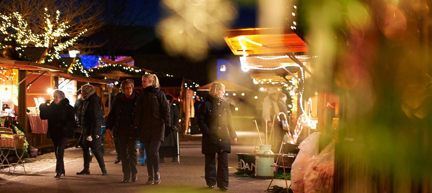
[[[332,193],[334,188],[334,140],[305,168],[305,193]]]

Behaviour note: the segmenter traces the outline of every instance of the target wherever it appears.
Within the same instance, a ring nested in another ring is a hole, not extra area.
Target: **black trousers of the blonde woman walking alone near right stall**
[[[217,175],[216,175],[216,153],[204,154],[206,159],[205,179],[209,186],[228,187],[228,153],[217,153]]]

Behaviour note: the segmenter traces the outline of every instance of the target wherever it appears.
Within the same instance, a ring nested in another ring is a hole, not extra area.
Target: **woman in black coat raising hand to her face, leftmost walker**
[[[39,106],[42,120],[48,119],[48,138],[51,138],[54,145],[54,153],[57,159],[54,177],[60,178],[64,172],[64,148],[67,139],[75,132],[75,114],[73,107],[69,104],[61,90],[54,90],[54,103],[49,106],[49,100]]]

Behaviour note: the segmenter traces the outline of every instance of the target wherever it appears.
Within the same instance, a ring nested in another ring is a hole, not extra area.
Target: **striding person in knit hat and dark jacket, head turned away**
[[[95,154],[96,160],[98,160],[102,175],[106,175],[107,170],[101,152],[102,137],[99,136],[101,135],[101,120],[99,118],[99,109],[101,109],[100,99],[96,95],[95,87],[90,84],[84,84],[81,87],[81,91],[83,92],[84,99],[81,118],[83,133],[79,141],[83,147],[84,169],[83,171],[76,172],[76,174],[90,174],[89,148],[91,148]]]

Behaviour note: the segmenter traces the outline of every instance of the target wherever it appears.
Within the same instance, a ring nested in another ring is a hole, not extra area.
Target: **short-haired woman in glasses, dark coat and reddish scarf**
[[[132,92],[133,82],[129,79],[122,81],[120,87],[123,94],[113,102],[108,113],[106,129],[113,131],[114,137],[118,139],[123,171],[121,182],[127,183],[131,174],[133,182],[138,179],[137,140],[139,135],[138,129],[132,125],[138,96]]]

